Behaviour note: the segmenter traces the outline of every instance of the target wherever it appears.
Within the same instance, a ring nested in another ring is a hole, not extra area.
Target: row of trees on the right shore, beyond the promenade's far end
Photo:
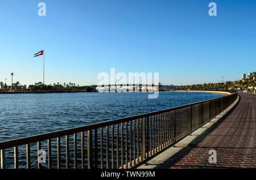
[[[180,90],[232,90],[232,91],[254,91],[256,87],[256,72],[248,75],[248,78],[227,81],[225,83],[204,83],[193,85],[181,85]]]

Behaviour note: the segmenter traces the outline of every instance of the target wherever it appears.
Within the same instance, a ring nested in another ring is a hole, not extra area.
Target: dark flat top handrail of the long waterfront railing
[[[202,104],[202,103],[205,103],[205,102],[221,99],[221,98],[224,98],[226,96],[232,96],[233,94],[234,93],[232,93],[230,95],[225,95],[225,96],[222,96],[222,97],[212,98],[210,100],[199,101],[199,102],[194,102],[194,103],[187,104],[187,105],[176,106],[174,108],[158,110],[158,111],[151,112],[151,113],[144,113],[144,114],[134,115],[134,116],[131,116],[131,117],[125,117],[125,118],[119,118],[119,119],[114,119],[114,120],[105,121],[105,122],[93,123],[91,125],[68,128],[68,129],[60,130],[60,131],[47,132],[47,133],[44,133],[44,134],[32,135],[32,136],[27,136],[27,137],[18,138],[18,139],[5,140],[5,141],[0,142],[0,149],[7,149],[7,148],[19,146],[19,145],[41,142],[43,140],[58,138],[58,137],[65,136],[65,135],[72,135],[72,134],[82,132],[82,131],[88,131],[88,130],[93,130],[93,129],[96,129],[96,128],[106,127],[106,126],[110,126],[110,125],[116,125],[118,123],[128,122],[128,121],[134,120],[134,119],[144,118],[144,117],[148,117],[148,116],[155,115],[155,114],[160,114],[160,113],[166,113],[166,112],[170,112],[171,110],[186,108],[188,106]]]

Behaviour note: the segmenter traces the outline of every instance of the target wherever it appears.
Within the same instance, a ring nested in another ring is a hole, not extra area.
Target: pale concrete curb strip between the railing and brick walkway
[[[229,105],[228,108],[223,110],[220,114],[217,114],[216,117],[210,119],[210,121],[205,123],[203,126],[197,128],[197,130],[185,136],[185,138],[167,148],[164,152],[147,161],[145,164],[138,166],[137,169],[168,168],[168,165],[164,165],[167,160],[178,158],[179,154],[182,151],[185,151],[187,147],[194,147],[197,143],[196,140],[207,133],[211,128],[215,128],[214,126],[218,123],[222,122],[233,111],[233,109],[236,108],[239,101],[240,96],[237,96],[236,101]]]

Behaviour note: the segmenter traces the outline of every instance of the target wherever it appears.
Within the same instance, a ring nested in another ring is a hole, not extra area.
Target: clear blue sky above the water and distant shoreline
[[[97,74],[159,72],[162,84],[256,71],[256,1],[0,1],[0,81],[97,84]],[[38,16],[38,3],[46,16]],[[208,4],[217,4],[217,16]]]

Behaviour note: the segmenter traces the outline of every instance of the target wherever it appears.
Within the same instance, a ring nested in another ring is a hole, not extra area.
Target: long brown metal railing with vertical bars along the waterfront
[[[1,168],[133,168],[209,121],[237,96],[6,140],[0,142]],[[40,149],[46,149],[46,164],[40,163]]]

